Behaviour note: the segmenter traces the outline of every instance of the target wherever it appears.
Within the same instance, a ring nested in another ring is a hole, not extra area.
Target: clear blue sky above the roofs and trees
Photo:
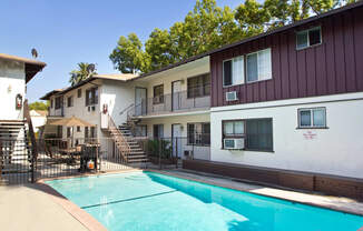
[[[217,0],[235,8],[243,0]],[[0,53],[30,58],[36,48],[47,67],[28,84],[30,102],[68,86],[78,62],[97,63],[98,73],[116,73],[108,56],[120,36],[145,41],[154,28],[182,21],[195,0],[1,0]]]

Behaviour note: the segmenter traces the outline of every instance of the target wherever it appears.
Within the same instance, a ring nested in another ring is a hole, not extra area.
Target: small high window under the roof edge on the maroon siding
[[[322,43],[321,27],[312,28],[310,30],[300,31],[296,33],[296,49],[301,50],[315,44]]]

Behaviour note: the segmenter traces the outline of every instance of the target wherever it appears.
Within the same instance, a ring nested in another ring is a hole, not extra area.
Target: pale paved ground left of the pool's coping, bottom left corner
[[[87,230],[35,184],[0,185],[0,230]]]

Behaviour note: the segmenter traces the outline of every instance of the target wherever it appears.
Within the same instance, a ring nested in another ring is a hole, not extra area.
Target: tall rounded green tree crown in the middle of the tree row
[[[228,7],[222,9],[215,0],[197,0],[184,21],[170,28],[170,38],[175,60],[180,60],[234,42],[241,33]]]

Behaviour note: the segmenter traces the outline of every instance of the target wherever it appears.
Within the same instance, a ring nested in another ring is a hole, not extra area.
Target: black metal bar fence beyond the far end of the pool
[[[0,180],[6,183],[120,171],[180,168],[183,159],[200,159],[209,152],[184,138],[130,138],[130,153],[121,153],[112,139],[40,139],[37,154],[27,139],[0,140]],[[134,152],[134,150],[136,150]],[[202,158],[204,159],[204,158]]]

